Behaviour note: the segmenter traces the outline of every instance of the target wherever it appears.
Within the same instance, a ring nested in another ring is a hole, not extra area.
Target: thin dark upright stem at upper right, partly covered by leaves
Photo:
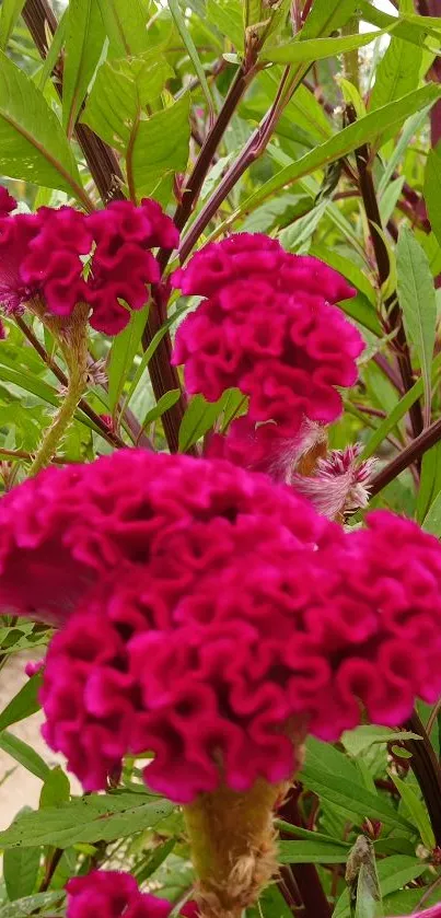
[[[349,123],[353,124],[353,121],[356,120],[356,112],[353,109],[353,106],[348,105],[346,111]],[[387,246],[384,241],[384,234],[382,231],[380,208],[376,199],[375,186],[373,183],[372,169],[370,165],[370,151],[368,144],[363,144],[362,147],[359,147],[356,150],[356,162],[358,169],[360,191],[363,199],[365,216],[368,218],[372,240],[372,247],[375,255],[379,286],[380,288],[383,288],[388,280],[391,265]],[[387,330],[388,333],[392,333],[396,329],[394,344],[397,351],[398,367],[403,380],[404,390],[405,392],[408,392],[414,385],[413,368],[409,348],[407,345],[406,334],[404,330],[402,319],[402,312],[399,309],[398,298],[395,290],[386,298],[385,307],[387,312]],[[409,408],[409,417],[413,433],[416,438],[421,433],[423,427],[421,405],[419,399],[417,399],[414,403],[414,405]]]

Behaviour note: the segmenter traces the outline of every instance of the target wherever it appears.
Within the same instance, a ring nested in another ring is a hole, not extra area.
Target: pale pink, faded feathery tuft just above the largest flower
[[[333,450],[326,457],[317,460],[311,476],[293,473],[290,484],[298,493],[304,495],[318,513],[329,520],[345,513],[364,509],[369,503],[369,484],[376,460],[360,460],[361,446],[356,444],[346,450]]]

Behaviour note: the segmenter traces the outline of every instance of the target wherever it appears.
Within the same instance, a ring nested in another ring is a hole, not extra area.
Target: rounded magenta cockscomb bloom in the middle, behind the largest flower
[[[305,417],[329,423],[339,416],[336,386],[353,385],[364,348],[332,305],[355,293],[340,275],[269,236],[243,233],[196,253],[173,282],[206,298],[176,334],[173,360],[185,364],[189,393],[216,402],[237,386],[249,396],[249,420],[274,420],[287,437]]]

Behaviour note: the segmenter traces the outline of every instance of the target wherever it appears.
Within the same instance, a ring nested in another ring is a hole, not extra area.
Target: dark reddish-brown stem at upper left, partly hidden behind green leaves
[[[47,55],[46,28],[54,35],[58,25],[51,8],[47,0],[26,0],[22,15],[42,58],[45,59]],[[56,77],[55,88],[61,97],[61,61],[57,62],[54,75]],[[123,173],[111,147],[104,143],[86,125],[77,124],[76,135],[104,204],[114,198],[124,198],[120,189]]]

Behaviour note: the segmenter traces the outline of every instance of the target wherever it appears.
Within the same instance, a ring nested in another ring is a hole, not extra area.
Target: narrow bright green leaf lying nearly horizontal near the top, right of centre
[[[339,38],[311,38],[304,42],[298,38],[286,45],[265,47],[260,57],[272,63],[310,63],[362,48],[390,31],[391,28],[385,28],[381,32],[361,32],[356,35],[343,35]]]

